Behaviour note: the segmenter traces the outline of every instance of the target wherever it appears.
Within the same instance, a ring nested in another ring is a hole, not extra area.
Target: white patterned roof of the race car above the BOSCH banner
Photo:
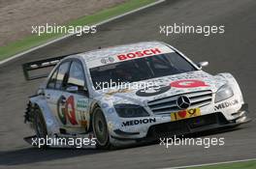
[[[166,44],[163,42],[137,42],[137,43],[122,44],[122,45],[116,45],[108,48],[92,50],[92,51],[80,53],[79,55],[85,61],[92,61],[92,60],[98,60],[105,57],[111,57],[114,55],[123,54],[123,53],[142,51],[149,48],[163,47],[163,46],[166,47]]]

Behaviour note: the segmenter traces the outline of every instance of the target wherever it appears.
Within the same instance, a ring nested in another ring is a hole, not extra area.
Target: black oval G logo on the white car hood
[[[171,86],[149,86],[136,92],[139,97],[151,97],[155,95],[163,94],[171,89]]]

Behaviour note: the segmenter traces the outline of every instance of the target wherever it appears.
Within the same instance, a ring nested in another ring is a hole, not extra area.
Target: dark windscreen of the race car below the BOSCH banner
[[[97,84],[132,83],[193,70],[196,68],[182,56],[171,52],[91,68],[90,74],[95,89],[99,90]]]

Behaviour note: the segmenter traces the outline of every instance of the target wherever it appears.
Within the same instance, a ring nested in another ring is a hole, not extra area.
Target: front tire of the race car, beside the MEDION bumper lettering
[[[98,149],[111,150],[110,134],[105,116],[100,107],[96,107],[92,114],[92,127],[96,137]]]

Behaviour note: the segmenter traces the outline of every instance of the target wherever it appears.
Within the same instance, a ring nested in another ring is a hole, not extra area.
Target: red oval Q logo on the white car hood
[[[170,85],[176,88],[197,88],[208,86],[204,81],[194,79],[177,80],[172,82]]]

